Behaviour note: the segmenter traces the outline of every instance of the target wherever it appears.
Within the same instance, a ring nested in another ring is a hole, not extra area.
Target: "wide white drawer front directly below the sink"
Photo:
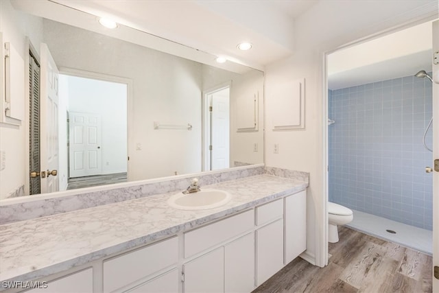
[[[239,215],[220,220],[185,233],[185,257],[215,246],[221,242],[244,233],[254,226],[254,211],[245,211]]]

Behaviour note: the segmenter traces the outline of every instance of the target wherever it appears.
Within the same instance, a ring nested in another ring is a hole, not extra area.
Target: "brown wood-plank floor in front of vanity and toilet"
[[[399,246],[339,227],[340,242],[329,244],[328,266],[298,257],[253,292],[431,292],[432,259]]]

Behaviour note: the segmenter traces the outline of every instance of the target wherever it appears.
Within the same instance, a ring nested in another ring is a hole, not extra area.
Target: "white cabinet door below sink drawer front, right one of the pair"
[[[224,246],[224,292],[254,289],[254,233]]]

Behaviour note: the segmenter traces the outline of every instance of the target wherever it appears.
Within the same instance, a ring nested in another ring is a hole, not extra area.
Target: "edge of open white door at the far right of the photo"
[[[433,51],[436,52],[433,64],[433,159],[436,164],[432,164],[437,166],[433,172],[433,267],[436,268],[433,292],[439,292],[439,21],[433,23]]]

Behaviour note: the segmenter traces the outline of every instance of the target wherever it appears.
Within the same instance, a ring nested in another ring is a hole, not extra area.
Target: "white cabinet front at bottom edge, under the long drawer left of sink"
[[[180,280],[178,279],[178,270],[174,269],[161,276],[148,281],[147,283],[140,285],[133,290],[127,291],[127,293],[170,293],[178,292],[178,285]]]

